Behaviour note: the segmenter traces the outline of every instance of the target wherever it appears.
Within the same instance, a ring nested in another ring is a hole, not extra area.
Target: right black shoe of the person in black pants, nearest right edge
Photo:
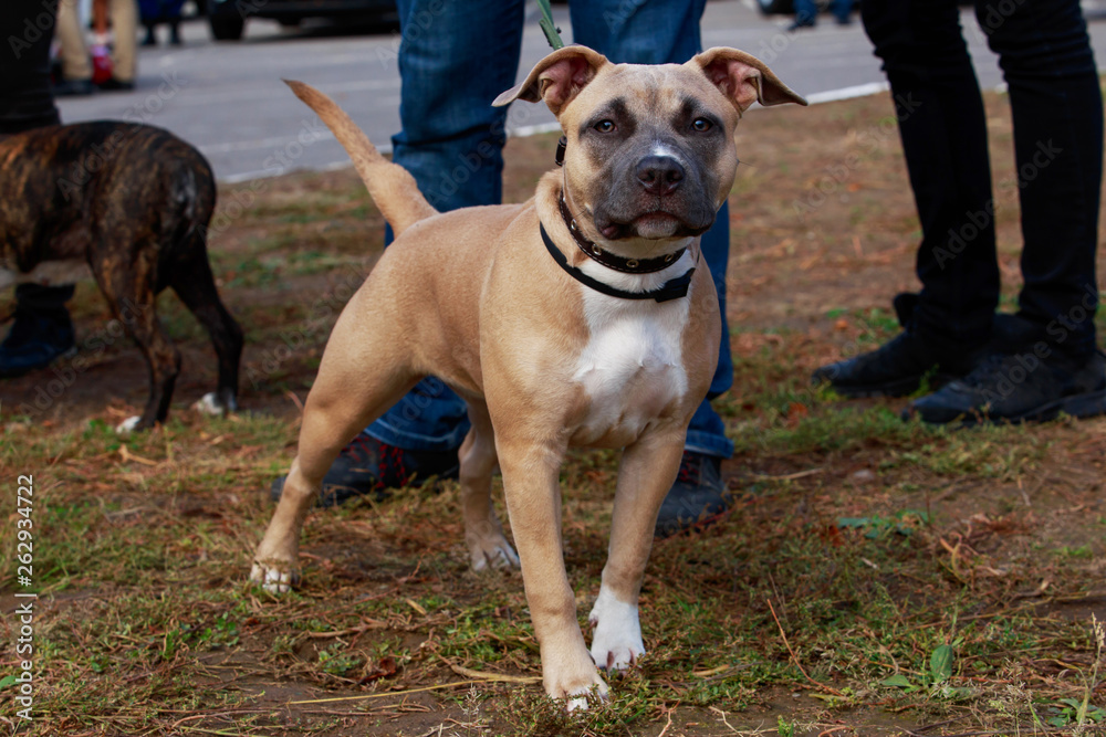
[[[963,424],[1044,422],[1061,412],[1076,418],[1106,414],[1106,356],[1073,360],[1053,351],[1041,359],[1030,351],[988,356],[963,379],[922,397],[902,419]]]

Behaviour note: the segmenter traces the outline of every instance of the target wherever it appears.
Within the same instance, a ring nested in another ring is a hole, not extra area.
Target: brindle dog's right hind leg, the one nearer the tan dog
[[[191,243],[180,249],[186,254],[169,275],[169,285],[180,301],[200,322],[211,338],[219,364],[216,391],[207,393],[196,409],[208,414],[233,412],[238,409],[238,367],[242,357],[242,328],[223,306],[215,285],[202,233],[186,238]]]

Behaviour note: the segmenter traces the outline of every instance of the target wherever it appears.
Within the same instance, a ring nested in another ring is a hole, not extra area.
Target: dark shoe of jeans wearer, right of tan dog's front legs
[[[730,508],[732,499],[722,485],[722,460],[684,451],[680,472],[657,515],[656,537],[705,527]]]

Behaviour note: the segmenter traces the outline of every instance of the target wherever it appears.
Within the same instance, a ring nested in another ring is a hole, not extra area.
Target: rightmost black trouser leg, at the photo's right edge
[[[1086,358],[1098,306],[1103,99],[1083,12],[1078,0],[975,8],[1010,86],[1025,241],[1020,314]]]

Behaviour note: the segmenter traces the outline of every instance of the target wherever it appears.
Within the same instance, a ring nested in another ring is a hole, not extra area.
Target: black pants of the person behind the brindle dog
[[[0,2],[0,135],[61,123],[50,86],[56,17],[58,0]],[[64,304],[72,296],[72,286],[21,284],[15,287],[17,310],[69,319]]]

